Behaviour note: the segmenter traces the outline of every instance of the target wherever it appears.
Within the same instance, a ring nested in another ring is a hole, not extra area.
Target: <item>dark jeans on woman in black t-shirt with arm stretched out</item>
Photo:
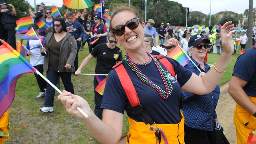
[[[94,89],[99,84],[95,77],[93,79],[93,84],[94,84]],[[98,92],[96,92],[96,90],[94,90],[94,103],[95,103],[94,113],[101,120],[102,120],[102,112],[103,112],[103,109],[100,108],[101,103],[102,103],[102,97],[103,97],[102,95],[100,95]]]

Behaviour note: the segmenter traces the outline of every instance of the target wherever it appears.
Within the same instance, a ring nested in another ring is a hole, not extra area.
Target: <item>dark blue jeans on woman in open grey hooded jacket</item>
[[[62,79],[65,90],[74,94],[74,87],[73,83],[71,82],[71,72],[56,72],[50,69],[48,69],[48,71],[46,72],[46,78],[54,85],[56,85],[56,81],[59,78],[59,76]],[[44,104],[45,107],[53,107],[54,94],[55,89],[49,83],[47,83]]]

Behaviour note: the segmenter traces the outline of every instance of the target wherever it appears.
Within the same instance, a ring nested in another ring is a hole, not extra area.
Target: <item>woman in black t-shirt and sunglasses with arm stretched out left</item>
[[[85,67],[87,63],[89,63],[89,61],[93,59],[93,57],[96,57],[97,59],[95,74],[108,74],[112,70],[112,67],[118,61],[122,60],[122,50],[116,46],[117,41],[112,31],[109,32],[107,39],[108,39],[107,43],[96,45],[95,48],[93,48],[93,51],[91,52],[91,54],[89,54],[87,57],[85,57],[85,59],[83,59],[83,62],[75,72],[76,76],[81,74],[83,67]],[[99,84],[96,77],[94,77],[93,83],[94,83],[94,89],[95,89]],[[94,113],[98,118],[102,119],[103,109],[100,108],[100,105],[102,103],[102,95],[100,95],[95,90],[94,90],[94,94],[95,94]]]

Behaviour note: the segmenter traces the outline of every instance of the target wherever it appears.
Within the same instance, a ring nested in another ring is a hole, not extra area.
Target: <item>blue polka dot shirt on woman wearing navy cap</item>
[[[202,72],[207,73],[210,70],[210,66],[207,63],[204,62],[205,70],[202,70],[197,61],[192,57],[191,59]],[[188,61],[185,67],[199,76],[199,70],[191,61]],[[199,130],[213,131],[213,120],[217,118],[215,109],[219,100],[219,94],[219,85],[211,93],[204,95],[182,90],[182,109],[185,125]]]

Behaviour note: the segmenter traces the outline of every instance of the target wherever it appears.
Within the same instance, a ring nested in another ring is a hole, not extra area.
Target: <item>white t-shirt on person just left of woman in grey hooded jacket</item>
[[[27,48],[32,53],[30,55],[30,64],[32,66],[43,65],[45,57],[41,55],[41,44],[39,40],[27,41]]]

